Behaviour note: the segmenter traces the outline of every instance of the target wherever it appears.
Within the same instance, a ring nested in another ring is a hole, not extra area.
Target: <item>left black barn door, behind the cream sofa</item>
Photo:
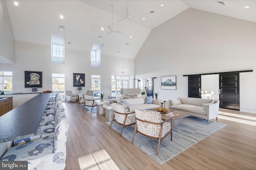
[[[188,97],[201,98],[201,75],[188,76]]]

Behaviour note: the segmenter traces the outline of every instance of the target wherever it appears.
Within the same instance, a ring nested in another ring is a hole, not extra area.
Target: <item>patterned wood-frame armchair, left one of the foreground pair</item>
[[[127,112],[127,109],[129,111],[129,108],[126,108],[124,105],[113,103],[114,116],[109,129],[111,129],[112,123],[115,119],[119,125],[123,126],[120,136],[122,136],[124,127],[134,125],[136,123],[135,113],[130,111]]]

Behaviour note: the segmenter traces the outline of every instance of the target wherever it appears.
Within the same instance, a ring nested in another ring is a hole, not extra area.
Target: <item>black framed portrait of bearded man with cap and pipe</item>
[[[42,72],[25,71],[25,88],[26,87],[42,87]]]

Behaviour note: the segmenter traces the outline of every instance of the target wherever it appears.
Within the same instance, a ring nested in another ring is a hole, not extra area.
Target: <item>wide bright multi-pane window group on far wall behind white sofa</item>
[[[121,88],[133,88],[133,78],[128,75],[112,75],[112,96],[122,96]]]

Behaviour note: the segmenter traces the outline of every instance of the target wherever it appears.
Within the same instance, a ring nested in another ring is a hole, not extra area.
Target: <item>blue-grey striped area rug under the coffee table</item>
[[[111,124],[110,121],[107,121],[106,123],[109,126]],[[143,135],[136,133],[134,145],[161,165],[224,126],[226,125],[214,121],[210,121],[208,124],[204,119],[189,116],[182,118],[181,124],[173,127],[172,141],[171,136],[168,135],[160,143],[158,156],[156,156],[158,147],[158,140],[156,139],[144,137]],[[116,121],[113,122],[111,129],[112,128],[118,133],[121,133],[122,126],[116,123]],[[134,128],[135,125],[125,127],[122,137],[125,137],[128,141],[132,142]]]

